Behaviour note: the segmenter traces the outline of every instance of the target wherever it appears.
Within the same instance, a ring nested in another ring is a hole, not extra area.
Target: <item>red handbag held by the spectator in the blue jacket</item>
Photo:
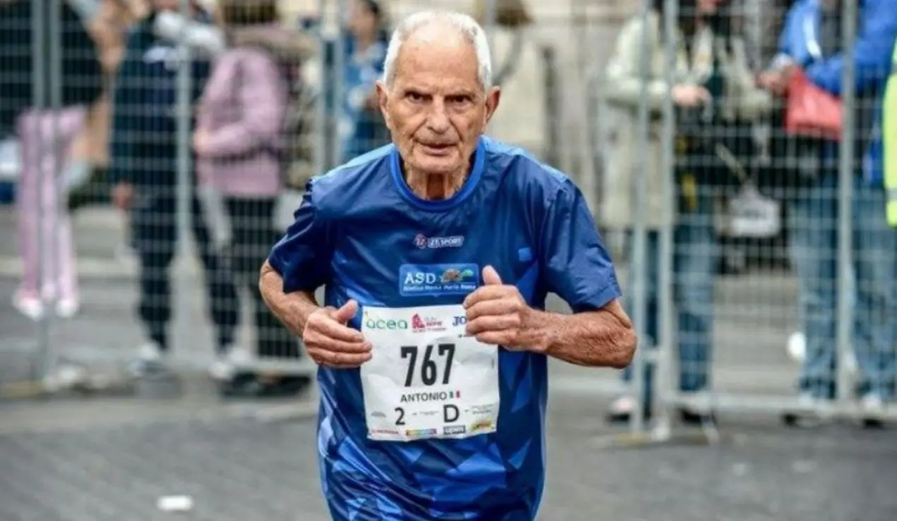
[[[798,69],[788,82],[785,131],[789,135],[840,139],[843,105],[841,101],[810,82]]]

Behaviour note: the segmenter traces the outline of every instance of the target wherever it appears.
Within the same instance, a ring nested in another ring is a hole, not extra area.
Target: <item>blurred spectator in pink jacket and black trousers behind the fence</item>
[[[193,140],[197,174],[224,196],[228,251],[252,298],[258,356],[298,359],[298,340],[262,300],[258,270],[281,235],[274,209],[285,176],[284,114],[314,43],[277,25],[276,0],[225,0],[219,6],[230,48],[215,63],[199,106]],[[229,395],[293,394],[310,383],[308,376],[235,375],[241,353],[231,350],[213,368],[213,376],[229,381],[224,387]]]

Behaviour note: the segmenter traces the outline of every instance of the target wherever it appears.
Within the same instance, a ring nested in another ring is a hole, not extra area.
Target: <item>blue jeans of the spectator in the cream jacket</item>
[[[660,236],[649,231],[645,260],[647,274],[645,297],[647,314],[640,345],[654,348],[660,333],[658,275],[660,271]],[[713,334],[714,278],[718,259],[718,243],[713,228],[713,200],[701,195],[697,206],[680,211],[674,238],[674,301],[679,340],[679,389],[683,392],[701,391],[708,384],[710,343]],[[634,274],[627,284],[632,289]],[[629,291],[632,294],[632,291]],[[631,316],[631,299],[626,307]],[[654,371],[645,367],[645,401],[650,404]],[[623,371],[623,380],[630,381],[632,367]]]

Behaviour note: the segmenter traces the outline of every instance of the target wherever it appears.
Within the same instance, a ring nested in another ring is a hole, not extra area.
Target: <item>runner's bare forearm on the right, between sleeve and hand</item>
[[[635,331],[618,300],[573,315],[530,309],[523,322],[520,343],[572,364],[623,369],[635,355]]]

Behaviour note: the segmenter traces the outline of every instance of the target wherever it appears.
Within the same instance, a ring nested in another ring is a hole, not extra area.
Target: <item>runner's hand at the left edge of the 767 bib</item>
[[[370,360],[370,343],[346,326],[356,313],[358,303],[349,300],[342,308],[320,308],[309,315],[302,342],[311,360],[334,369],[353,369]]]

